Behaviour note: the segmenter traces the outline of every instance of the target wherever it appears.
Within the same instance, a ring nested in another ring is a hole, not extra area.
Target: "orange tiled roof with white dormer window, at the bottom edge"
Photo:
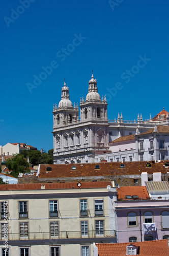
[[[167,239],[133,242],[133,243],[112,243],[96,244],[99,256],[126,256],[126,247],[128,245],[139,246],[139,256],[168,256],[169,247]]]

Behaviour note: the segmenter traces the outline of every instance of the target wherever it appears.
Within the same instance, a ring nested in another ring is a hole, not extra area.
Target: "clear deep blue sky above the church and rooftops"
[[[0,144],[52,148],[64,78],[79,104],[92,69],[108,119],[169,111],[168,12],[167,0],[1,1]]]

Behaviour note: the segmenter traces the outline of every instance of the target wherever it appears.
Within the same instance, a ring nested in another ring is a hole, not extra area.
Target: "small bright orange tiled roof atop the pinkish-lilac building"
[[[138,196],[139,199],[150,198],[146,186],[120,187],[117,190],[118,190],[118,200],[120,199],[128,200],[126,199],[126,196]]]

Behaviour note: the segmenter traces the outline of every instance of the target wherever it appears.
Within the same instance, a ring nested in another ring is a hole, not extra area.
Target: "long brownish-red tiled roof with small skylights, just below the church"
[[[147,161],[123,162],[124,168],[120,167],[121,162],[99,162],[99,163],[82,163],[82,164],[41,164],[39,177],[41,179],[64,178],[64,177],[96,177],[96,176],[112,176],[112,175],[140,175],[142,172],[148,174],[168,172],[168,168],[164,170],[164,163],[169,160],[161,160],[158,163],[152,162],[151,167],[146,167]],[[76,165],[76,169],[72,166]],[[96,169],[95,165],[100,168]],[[47,171],[46,167],[51,167],[51,171]]]

